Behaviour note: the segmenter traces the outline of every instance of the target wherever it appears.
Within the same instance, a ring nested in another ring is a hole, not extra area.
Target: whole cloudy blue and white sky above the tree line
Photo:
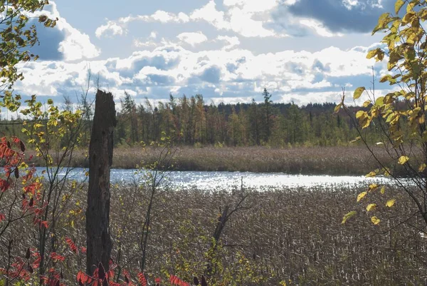
[[[21,64],[15,91],[75,101],[88,86],[125,91],[142,103],[201,94],[209,103],[339,102],[386,73],[366,58],[371,36],[394,0],[50,1],[36,23],[38,61]],[[36,15],[37,16],[37,15]],[[376,85],[377,93],[389,86]]]

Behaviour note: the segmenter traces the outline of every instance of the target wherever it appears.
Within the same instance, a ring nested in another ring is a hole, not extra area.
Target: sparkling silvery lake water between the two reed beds
[[[38,167],[41,174],[43,168]],[[72,180],[88,180],[85,172],[88,169],[74,168],[68,174]],[[65,175],[65,170],[59,173]],[[112,169],[112,183],[134,183],[141,181],[142,174],[136,169]],[[167,183],[174,188],[190,188],[195,186],[201,190],[233,188],[256,188],[263,190],[270,187],[286,188],[330,188],[334,185],[358,185],[373,182],[389,181],[386,178],[365,178],[364,176],[331,176],[331,175],[288,175],[285,173],[250,173],[250,172],[202,172],[202,171],[172,171],[167,173]]]

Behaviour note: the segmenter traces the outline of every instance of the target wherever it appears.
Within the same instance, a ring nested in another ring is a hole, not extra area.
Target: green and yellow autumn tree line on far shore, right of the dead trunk
[[[153,105],[137,105],[129,93],[117,114],[115,145],[157,142],[169,137],[184,145],[344,145],[357,136],[347,116],[334,114],[334,103],[273,103],[265,88],[258,103],[206,104],[201,94],[169,95]]]

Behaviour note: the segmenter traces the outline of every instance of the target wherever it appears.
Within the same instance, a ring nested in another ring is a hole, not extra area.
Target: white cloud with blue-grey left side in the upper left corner
[[[99,56],[100,49],[92,44],[88,34],[68,24],[64,18],[60,17],[55,2],[50,3],[44,11],[36,11],[29,15],[33,17],[30,24],[37,26],[37,34],[41,42],[40,46],[35,46],[32,52],[38,54],[41,60],[75,61]],[[37,19],[41,14],[52,19],[58,18],[56,26],[46,29],[38,24]]]

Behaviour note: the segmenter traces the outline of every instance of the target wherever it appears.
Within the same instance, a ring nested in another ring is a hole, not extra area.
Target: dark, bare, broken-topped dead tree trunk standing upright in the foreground
[[[116,126],[115,103],[111,93],[98,90],[89,145],[89,189],[86,210],[86,272],[102,263],[108,270],[112,242],[110,238],[110,168],[113,132]]]

